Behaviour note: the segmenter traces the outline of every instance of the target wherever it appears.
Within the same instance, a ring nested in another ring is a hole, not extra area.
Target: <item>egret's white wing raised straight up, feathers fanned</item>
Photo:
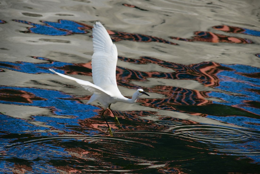
[[[117,49],[105,27],[96,22],[93,27],[92,76],[95,85],[113,94],[121,94],[116,84]]]

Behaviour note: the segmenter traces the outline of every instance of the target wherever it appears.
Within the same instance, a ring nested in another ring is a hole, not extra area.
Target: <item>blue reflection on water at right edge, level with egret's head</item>
[[[249,107],[245,103],[245,101],[260,101],[260,96],[257,92],[254,92],[255,90],[260,90],[260,80],[259,78],[251,78],[242,74],[259,73],[260,69],[257,67],[238,64],[221,65],[224,67],[230,67],[233,71],[221,71],[217,73],[217,77],[219,78],[219,86],[216,86],[215,88],[232,92],[232,94],[212,91],[209,93],[209,96],[221,98],[226,101],[213,101],[213,103],[236,106],[252,113],[260,114],[259,108]]]

